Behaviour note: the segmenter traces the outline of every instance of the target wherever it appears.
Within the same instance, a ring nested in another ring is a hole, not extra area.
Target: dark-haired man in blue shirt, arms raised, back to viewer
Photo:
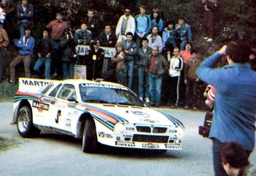
[[[199,79],[216,89],[209,136],[215,175],[226,175],[219,157],[222,143],[239,141],[248,155],[255,145],[256,72],[248,63],[250,51],[246,44],[230,42],[206,58],[196,71]],[[228,65],[213,68],[222,56],[227,57]]]

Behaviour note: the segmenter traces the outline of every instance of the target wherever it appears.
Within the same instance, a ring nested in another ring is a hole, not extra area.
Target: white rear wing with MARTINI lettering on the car
[[[39,93],[42,88],[48,84],[59,83],[60,81],[51,80],[51,79],[33,79],[20,77],[19,78],[19,91],[20,92],[30,92],[30,93]]]

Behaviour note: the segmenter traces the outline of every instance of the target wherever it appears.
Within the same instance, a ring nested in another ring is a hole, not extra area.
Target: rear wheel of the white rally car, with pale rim
[[[34,137],[40,133],[40,130],[33,125],[32,111],[28,106],[19,109],[17,130],[23,138]]]

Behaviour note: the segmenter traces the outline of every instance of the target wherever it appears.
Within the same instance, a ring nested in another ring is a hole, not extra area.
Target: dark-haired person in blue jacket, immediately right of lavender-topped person
[[[163,29],[162,39],[165,51],[173,51],[175,43],[176,30],[174,29],[174,22],[167,22],[167,28]]]

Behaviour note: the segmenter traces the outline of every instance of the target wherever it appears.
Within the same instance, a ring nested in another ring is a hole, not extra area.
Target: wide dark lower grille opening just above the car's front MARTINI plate
[[[168,139],[169,139],[169,136],[141,135],[141,134],[133,135],[133,141],[136,141],[136,142],[167,143]]]

